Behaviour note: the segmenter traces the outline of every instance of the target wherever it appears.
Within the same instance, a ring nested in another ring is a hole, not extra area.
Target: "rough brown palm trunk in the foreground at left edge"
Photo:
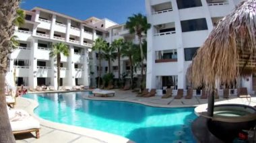
[[[7,56],[11,53],[11,36],[19,0],[0,0],[0,89],[5,89]],[[0,142],[15,142],[6,107],[5,91],[0,90]]]

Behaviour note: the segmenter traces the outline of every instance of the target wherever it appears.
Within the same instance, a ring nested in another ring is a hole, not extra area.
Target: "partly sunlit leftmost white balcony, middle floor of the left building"
[[[11,52],[12,59],[30,59],[30,48],[18,46]]]

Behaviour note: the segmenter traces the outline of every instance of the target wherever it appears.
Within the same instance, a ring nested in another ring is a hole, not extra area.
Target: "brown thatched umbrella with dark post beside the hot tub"
[[[208,115],[213,115],[215,81],[232,83],[256,71],[256,1],[244,0],[212,30],[193,58],[191,82],[212,91]]]

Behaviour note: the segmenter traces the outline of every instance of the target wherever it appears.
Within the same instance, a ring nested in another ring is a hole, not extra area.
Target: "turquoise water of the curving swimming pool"
[[[45,120],[118,134],[138,143],[195,142],[194,108],[160,108],[120,101],[94,101],[88,91],[24,95],[38,101]]]

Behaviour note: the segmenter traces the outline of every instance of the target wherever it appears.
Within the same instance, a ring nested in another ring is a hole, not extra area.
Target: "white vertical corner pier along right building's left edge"
[[[149,13],[151,13],[151,4],[150,1],[146,1],[146,11],[148,13],[147,17],[148,17],[148,23],[151,23],[152,19],[151,19],[151,15]],[[146,73],[146,88],[147,89],[154,89],[156,88],[156,75],[155,75],[155,70],[153,68],[154,64],[155,64],[155,51],[154,51],[154,47],[153,47],[153,35],[154,35],[154,26],[152,26],[150,28],[150,30],[148,30],[148,34],[147,34],[147,41],[148,41],[148,50],[147,50],[147,73]],[[137,39],[137,36],[135,36],[135,39]]]

